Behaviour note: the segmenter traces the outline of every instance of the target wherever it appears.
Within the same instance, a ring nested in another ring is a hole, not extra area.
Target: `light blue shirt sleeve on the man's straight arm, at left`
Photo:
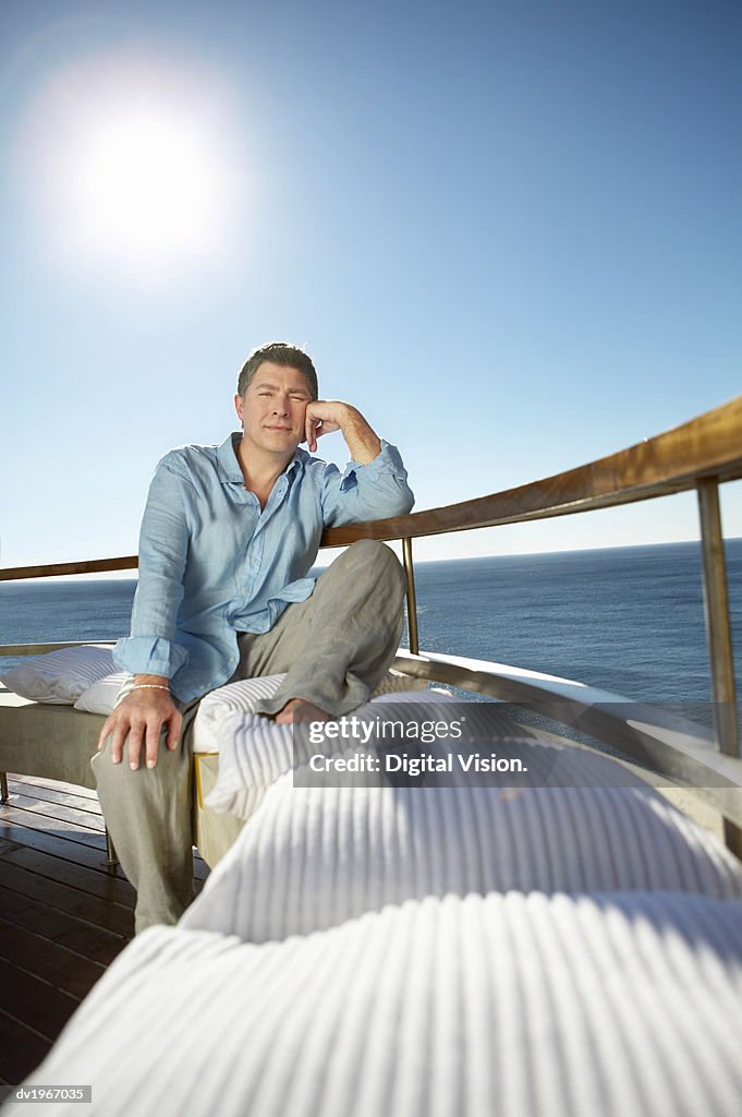
[[[132,633],[114,649],[116,666],[134,675],[172,678],[187,660],[187,650],[174,638],[189,545],[184,486],[190,484],[176,469],[173,455],[167,455],[150,486],[139,533]]]

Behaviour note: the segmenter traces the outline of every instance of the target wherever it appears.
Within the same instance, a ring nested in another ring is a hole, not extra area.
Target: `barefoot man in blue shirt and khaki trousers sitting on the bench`
[[[317,582],[325,527],[404,515],[413,495],[397,450],[356,408],[318,399],[299,349],[251,353],[221,446],[186,446],[158,464],[142,522],[132,631],[116,663],[131,672],[94,757],[98,795],[137,890],[136,929],[175,923],[192,899],[189,728],[225,682],[287,672],[259,713],[290,723],[337,717],[367,700],[403,627],[394,553],[362,540]],[[339,430],[343,472],[311,452]]]

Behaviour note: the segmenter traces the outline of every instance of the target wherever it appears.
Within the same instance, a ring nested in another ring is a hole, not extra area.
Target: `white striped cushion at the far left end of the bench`
[[[60,648],[46,656],[28,656],[22,663],[0,675],[0,681],[22,698],[71,706],[96,679],[110,675],[113,667],[110,649],[85,645]]]

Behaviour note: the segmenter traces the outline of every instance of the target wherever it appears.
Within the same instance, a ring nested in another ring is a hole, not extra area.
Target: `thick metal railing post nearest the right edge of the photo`
[[[719,505],[719,479],[716,477],[698,478],[697,491],[703,555],[703,601],[711,662],[711,693],[716,747],[730,756],[739,756],[734,658],[729,619],[724,536]],[[742,831],[725,821],[724,837],[729,848],[742,858]]]

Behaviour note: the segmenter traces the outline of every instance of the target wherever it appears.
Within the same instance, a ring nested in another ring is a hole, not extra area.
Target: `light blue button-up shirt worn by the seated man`
[[[142,521],[132,634],[114,660],[165,676],[183,701],[231,678],[238,632],[268,632],[311,594],[325,527],[405,515],[414,502],[399,452],[383,441],[374,461],[343,472],[298,449],[261,510],[244,488],[240,438],[165,455]]]

